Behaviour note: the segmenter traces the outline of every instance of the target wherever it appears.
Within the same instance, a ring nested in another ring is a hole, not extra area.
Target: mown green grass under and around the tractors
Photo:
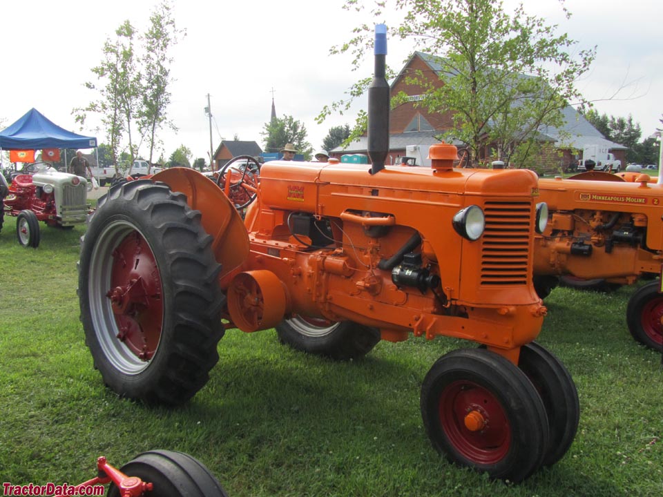
[[[178,409],[117,398],[93,369],[76,296],[84,227],[43,226],[39,249],[0,233],[0,483],[79,483],[105,455],[202,460],[239,496],[657,496],[663,492],[661,356],[637,345],[632,288],[556,289],[539,342],[566,364],[581,418],[568,454],[521,485],[450,465],[430,447],[419,388],[459,340],[380,343],[363,361],[295,353],[273,331],[229,330],[206,387]]]

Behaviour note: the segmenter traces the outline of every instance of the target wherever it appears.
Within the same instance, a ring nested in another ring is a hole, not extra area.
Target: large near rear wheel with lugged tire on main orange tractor
[[[99,199],[81,243],[86,344],[120,396],[178,405],[208,380],[224,333],[212,237],[181,193],[149,179]]]

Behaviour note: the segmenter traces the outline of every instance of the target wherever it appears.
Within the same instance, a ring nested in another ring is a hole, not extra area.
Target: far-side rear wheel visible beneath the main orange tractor
[[[281,343],[336,360],[362,358],[380,341],[380,331],[352,321],[332,322],[296,315],[276,325]]]

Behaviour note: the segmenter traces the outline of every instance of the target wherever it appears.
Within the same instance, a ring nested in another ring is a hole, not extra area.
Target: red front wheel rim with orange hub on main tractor
[[[499,400],[477,383],[457,381],[445,387],[439,419],[454,448],[474,464],[494,464],[509,451],[511,426],[506,413]]]

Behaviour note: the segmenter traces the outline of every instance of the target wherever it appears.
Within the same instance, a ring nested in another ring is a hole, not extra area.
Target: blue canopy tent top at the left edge
[[[14,124],[0,131],[0,150],[43,148],[97,148],[97,139],[60,128],[35,108],[31,108]],[[66,163],[66,156],[64,160]]]

